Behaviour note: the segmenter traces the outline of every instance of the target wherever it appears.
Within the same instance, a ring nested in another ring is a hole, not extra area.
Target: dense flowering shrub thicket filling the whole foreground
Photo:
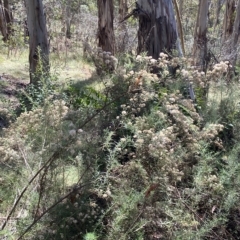
[[[35,89],[31,110],[3,131],[1,235],[239,239],[240,112],[229,64],[205,74],[163,53],[114,63],[96,88]]]

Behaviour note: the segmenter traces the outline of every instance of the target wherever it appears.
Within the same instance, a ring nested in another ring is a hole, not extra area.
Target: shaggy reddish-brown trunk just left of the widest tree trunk
[[[113,0],[97,0],[98,5],[98,46],[103,51],[115,53],[113,32]]]

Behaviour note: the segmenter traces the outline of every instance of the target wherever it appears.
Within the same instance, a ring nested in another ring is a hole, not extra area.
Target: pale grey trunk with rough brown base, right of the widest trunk
[[[198,16],[194,35],[193,58],[194,65],[200,70],[207,69],[207,24],[208,24],[208,0],[200,0]]]

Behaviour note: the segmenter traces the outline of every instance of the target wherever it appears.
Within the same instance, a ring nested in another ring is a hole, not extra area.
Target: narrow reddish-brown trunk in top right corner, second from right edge
[[[226,40],[228,40],[228,38],[232,35],[235,10],[236,10],[235,0],[227,0],[224,20],[223,20],[223,36],[222,36],[223,43]]]

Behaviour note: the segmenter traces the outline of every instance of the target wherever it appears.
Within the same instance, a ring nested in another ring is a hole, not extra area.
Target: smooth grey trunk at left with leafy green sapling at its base
[[[30,83],[37,84],[49,72],[46,20],[41,0],[26,0],[29,30]]]

